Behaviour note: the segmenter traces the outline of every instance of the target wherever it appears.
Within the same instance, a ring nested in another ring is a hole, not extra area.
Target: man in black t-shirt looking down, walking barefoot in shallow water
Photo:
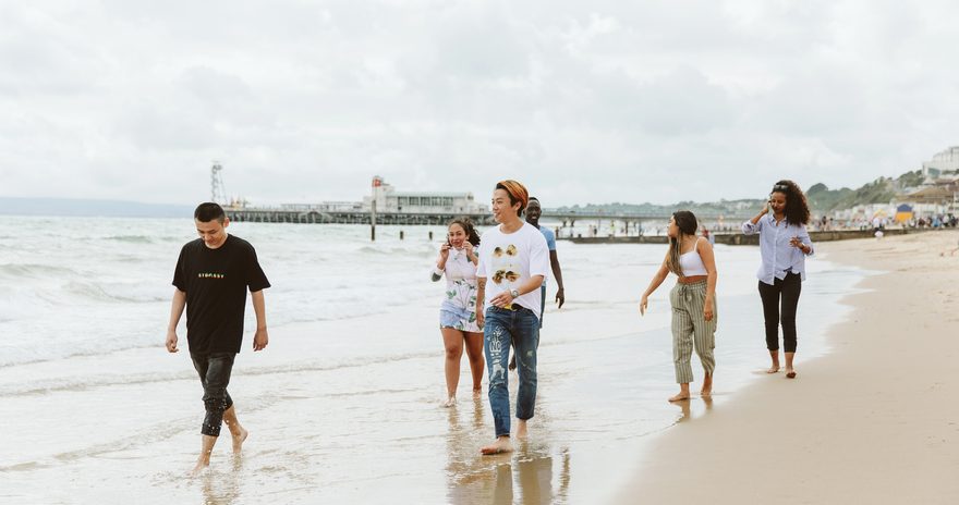
[[[246,430],[240,426],[233,399],[227,393],[233,358],[243,343],[246,290],[256,312],[253,350],[269,342],[263,290],[270,286],[248,242],[227,234],[230,220],[217,204],[201,204],[193,213],[199,238],[180,250],[173,273],[173,307],[167,329],[167,350],[177,353],[177,325],[186,308],[186,341],[190,358],[203,383],[203,449],[194,473],[209,466],[210,452],[223,421],[233,436],[233,452],[240,452]]]

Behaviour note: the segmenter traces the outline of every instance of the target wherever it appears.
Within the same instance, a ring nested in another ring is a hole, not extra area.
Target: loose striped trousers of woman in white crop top
[[[692,284],[676,283],[669,292],[672,305],[672,361],[676,366],[676,382],[688,384],[693,382],[693,369],[690,358],[693,347],[703,364],[703,369],[713,374],[716,359],[713,348],[716,347],[717,310],[713,303],[713,320],[706,321],[703,306],[706,303],[706,281]]]

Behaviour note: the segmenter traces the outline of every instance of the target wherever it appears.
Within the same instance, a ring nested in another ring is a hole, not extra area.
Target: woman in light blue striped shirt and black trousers
[[[770,213],[772,211],[772,213]],[[760,298],[766,322],[766,348],[773,359],[768,373],[779,371],[779,325],[782,325],[782,346],[786,352],[786,377],[796,378],[796,309],[802,281],[805,281],[805,257],[812,256],[813,243],[805,225],[810,221],[809,204],[802,189],[792,181],[779,181],[773,186],[769,200],[753,219],[742,223],[742,233],[760,234],[760,254],[763,262],[760,279]],[[781,305],[781,310],[780,310]]]

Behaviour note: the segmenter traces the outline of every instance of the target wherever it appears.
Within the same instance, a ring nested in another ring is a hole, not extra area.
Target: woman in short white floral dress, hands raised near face
[[[447,407],[454,406],[457,402],[464,343],[473,375],[473,394],[480,395],[482,390],[483,329],[476,320],[476,264],[480,258],[475,248],[478,245],[480,234],[469,219],[452,220],[433,271],[434,282],[446,275],[446,296],[439,308],[439,331],[446,347]]]

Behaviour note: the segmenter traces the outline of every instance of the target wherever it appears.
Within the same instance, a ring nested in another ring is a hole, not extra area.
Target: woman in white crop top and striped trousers
[[[693,381],[690,358],[693,347],[705,371],[700,394],[709,396],[713,392],[718,274],[713,246],[706,238],[696,236],[697,229],[699,222],[692,212],[680,210],[672,214],[666,229],[669,237],[666,259],[640,300],[640,313],[645,315],[650,295],[663,284],[669,272],[677,275],[676,286],[669,292],[669,303],[672,305],[672,359],[676,382],[680,390],[679,394],[669,398],[670,402],[690,397],[689,384]]]

